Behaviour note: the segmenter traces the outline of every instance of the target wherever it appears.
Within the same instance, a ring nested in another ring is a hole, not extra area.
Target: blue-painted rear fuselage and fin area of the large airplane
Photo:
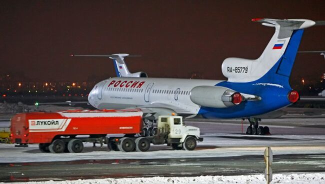
[[[303,29],[294,30],[292,32],[284,54],[261,78],[252,82],[223,81],[216,84],[216,86],[227,87],[241,93],[260,96],[261,100],[243,101],[239,105],[227,108],[201,107],[198,114],[201,114],[206,118],[249,117],[267,113],[289,105],[290,102],[287,98],[287,94],[291,90],[289,75],[302,33]]]

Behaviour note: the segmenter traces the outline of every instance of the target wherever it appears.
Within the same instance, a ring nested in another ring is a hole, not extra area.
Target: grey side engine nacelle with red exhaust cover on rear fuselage
[[[238,105],[243,96],[232,89],[220,86],[196,86],[190,91],[190,100],[198,105],[214,108],[226,108]]]

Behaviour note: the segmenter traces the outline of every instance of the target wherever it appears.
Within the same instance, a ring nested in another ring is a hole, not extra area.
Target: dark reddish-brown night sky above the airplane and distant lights
[[[70,53],[130,53],[132,72],[224,79],[226,57],[257,58],[274,29],[254,17],[325,20],[324,0],[1,0],[0,73],[32,80],[114,76],[112,61]],[[325,50],[325,26],[305,29],[300,50]],[[299,54],[293,76],[320,75],[325,60]]]

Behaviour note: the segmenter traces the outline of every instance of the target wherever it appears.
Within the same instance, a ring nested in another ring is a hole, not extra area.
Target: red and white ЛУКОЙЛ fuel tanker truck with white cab
[[[103,142],[108,150],[124,152],[147,151],[150,143],[193,150],[203,140],[199,128],[186,126],[181,116],[159,116],[156,133],[144,136],[142,115],[139,109],[19,113],[11,118],[10,138],[21,145],[38,143],[40,151],[52,153],[81,152],[83,142]]]

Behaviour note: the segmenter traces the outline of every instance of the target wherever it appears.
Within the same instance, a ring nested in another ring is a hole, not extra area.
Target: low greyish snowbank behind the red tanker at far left
[[[75,106],[57,106],[57,105],[26,105],[22,102],[18,103],[0,103],[0,113],[20,113],[20,112],[38,112],[38,111],[46,111],[46,112],[56,112],[60,110],[67,109],[81,109],[81,107]]]

